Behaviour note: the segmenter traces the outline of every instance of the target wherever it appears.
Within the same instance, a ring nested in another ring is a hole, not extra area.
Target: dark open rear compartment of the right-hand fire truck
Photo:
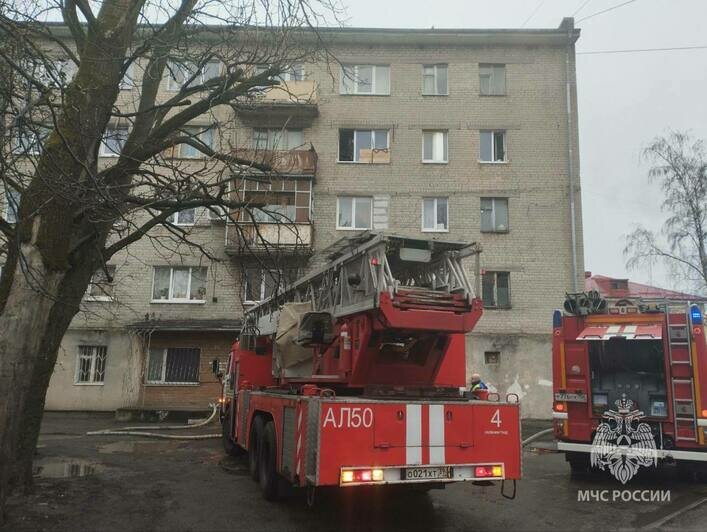
[[[611,338],[589,342],[592,412],[615,409],[626,395],[647,416],[668,415],[662,340]]]

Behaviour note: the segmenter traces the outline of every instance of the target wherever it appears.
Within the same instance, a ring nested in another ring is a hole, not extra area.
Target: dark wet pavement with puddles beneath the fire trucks
[[[121,425],[108,415],[47,414],[36,489],[10,501],[4,530],[704,530],[707,522],[707,486],[677,480],[674,468],[642,470],[626,486],[601,473],[572,478],[550,441],[524,453],[515,500],[465,483],[427,494],[318,492],[308,509],[302,495],[263,500],[245,461],[224,457],[219,440],[83,435]],[[524,436],[546,427],[525,423]],[[596,498],[579,500],[587,493]],[[626,493],[639,500],[622,500]],[[640,500],[651,493],[663,500]]]

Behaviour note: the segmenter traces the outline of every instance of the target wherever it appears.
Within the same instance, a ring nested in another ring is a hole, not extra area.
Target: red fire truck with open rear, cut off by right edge
[[[707,345],[702,307],[686,301],[609,301],[590,292],[569,295],[565,311],[553,316],[552,417],[558,449],[572,471],[590,468],[603,421],[607,431],[615,430],[607,412],[619,419],[631,408],[633,425],[624,429],[634,431],[639,421],[647,424],[650,436],[644,444],[656,461],[676,462],[685,476],[704,475]]]

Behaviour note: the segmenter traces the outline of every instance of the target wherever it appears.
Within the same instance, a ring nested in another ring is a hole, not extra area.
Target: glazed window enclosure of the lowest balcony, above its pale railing
[[[243,179],[237,183],[239,198],[263,207],[243,208],[236,219],[245,223],[309,223],[312,182],[307,179]]]

